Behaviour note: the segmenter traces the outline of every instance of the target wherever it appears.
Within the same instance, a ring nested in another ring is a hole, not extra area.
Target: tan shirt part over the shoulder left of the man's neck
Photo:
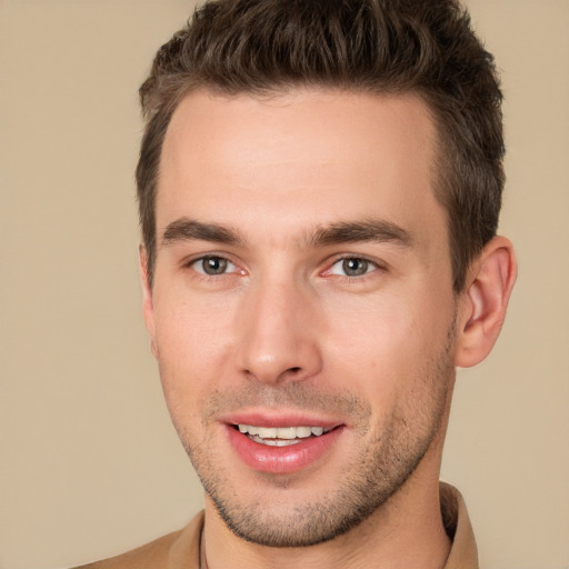
[[[179,531],[162,536],[126,553],[73,569],[174,569],[178,567],[197,569],[202,527],[203,512],[200,512]],[[194,566],[191,565],[192,560],[196,561]]]

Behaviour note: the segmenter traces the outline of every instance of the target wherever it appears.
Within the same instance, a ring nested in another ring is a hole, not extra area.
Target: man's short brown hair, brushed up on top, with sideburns
[[[158,51],[140,88],[137,168],[149,280],[162,142],[180,100],[207,87],[272,93],[318,86],[413,92],[438,129],[436,194],[448,214],[453,288],[496,234],[503,189],[499,80],[458,0],[212,0]]]

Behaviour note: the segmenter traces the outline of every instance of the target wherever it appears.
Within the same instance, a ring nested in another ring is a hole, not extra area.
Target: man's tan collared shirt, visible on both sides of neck
[[[447,533],[452,539],[443,569],[479,569],[472,526],[460,492],[441,482],[441,512]],[[203,511],[180,531],[104,561],[76,569],[200,569],[200,539]]]

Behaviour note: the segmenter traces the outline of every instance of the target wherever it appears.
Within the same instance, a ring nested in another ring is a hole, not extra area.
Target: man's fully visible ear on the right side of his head
[[[516,276],[511,242],[495,237],[472,262],[460,293],[456,366],[476,366],[490,353],[506,318]]]

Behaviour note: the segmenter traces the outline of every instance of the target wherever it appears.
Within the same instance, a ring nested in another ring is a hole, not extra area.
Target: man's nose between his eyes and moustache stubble
[[[317,302],[310,290],[283,279],[251,286],[239,333],[240,371],[263,383],[300,381],[322,367]]]

